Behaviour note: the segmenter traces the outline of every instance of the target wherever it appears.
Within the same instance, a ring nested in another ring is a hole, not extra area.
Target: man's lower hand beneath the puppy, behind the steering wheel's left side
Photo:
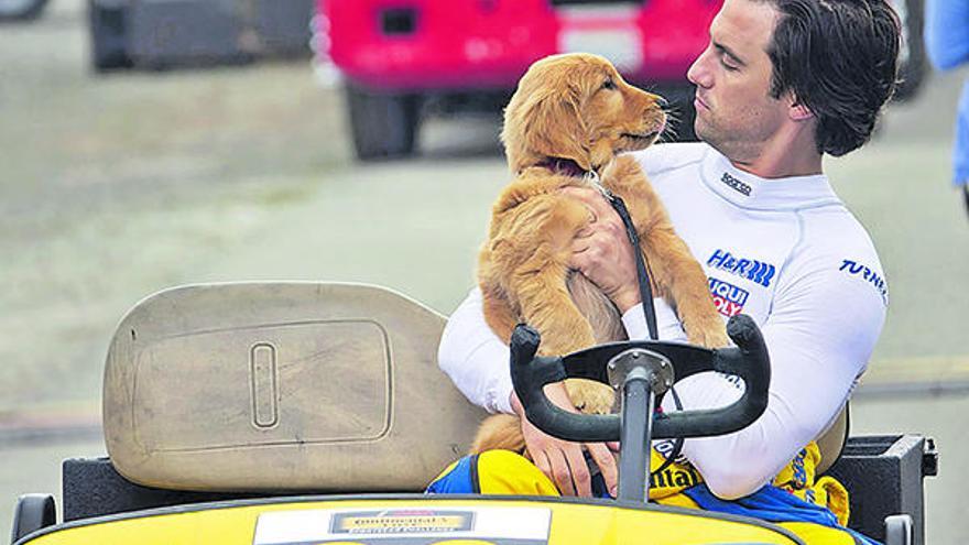
[[[545,395],[552,403],[571,412],[577,412],[575,405],[568,399],[565,384],[555,383],[545,388]],[[525,411],[514,392],[511,394],[511,406],[522,421],[522,435],[525,437],[525,446],[532,456],[532,461],[558,487],[563,495],[592,495],[589,467],[583,455],[583,448],[587,449],[599,466],[599,471],[606,480],[609,493],[614,498],[619,471],[616,468],[616,458],[609,447],[602,443],[569,443],[545,434],[525,418]]]

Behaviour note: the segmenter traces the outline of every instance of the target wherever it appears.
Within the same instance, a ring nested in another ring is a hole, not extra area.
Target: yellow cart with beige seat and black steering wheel
[[[64,462],[59,523],[52,495],[22,497],[12,542],[802,543],[755,519],[643,501],[651,437],[728,433],[763,411],[770,363],[752,321],[731,324],[730,349],[635,341],[563,358],[535,358],[537,334],[515,331],[513,381],[530,419],[569,439],[621,437],[617,500],[421,493],[483,416],[437,369],[444,323],[400,294],[351,284],[196,285],[142,301],[108,352],[109,457]],[[654,417],[663,390],[709,370],[743,378],[741,400]],[[556,410],[542,385],[566,377],[611,382],[621,414]],[[930,440],[847,438],[847,426],[834,436],[824,456],[851,492],[850,526],[923,543]]]

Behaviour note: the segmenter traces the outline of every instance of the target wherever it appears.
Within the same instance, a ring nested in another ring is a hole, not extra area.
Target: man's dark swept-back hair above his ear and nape
[[[819,153],[865,143],[895,90],[901,26],[888,0],[767,0],[781,13],[767,54],[771,95],[817,119]]]

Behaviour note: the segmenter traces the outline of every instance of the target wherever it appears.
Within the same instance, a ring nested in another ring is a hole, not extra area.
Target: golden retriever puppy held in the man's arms
[[[551,56],[522,77],[501,134],[515,178],[494,204],[478,260],[484,317],[505,342],[519,323],[542,335],[542,355],[625,339],[616,306],[568,265],[573,240],[595,218],[562,189],[601,184],[625,201],[653,291],[676,309],[689,341],[727,345],[703,269],[673,231],[639,163],[619,155],[658,138],[666,123],[661,103],[597,55]],[[566,389],[583,412],[612,407],[613,392],[605,384],[569,380]],[[471,451],[524,446],[519,418],[496,415],[482,423]]]

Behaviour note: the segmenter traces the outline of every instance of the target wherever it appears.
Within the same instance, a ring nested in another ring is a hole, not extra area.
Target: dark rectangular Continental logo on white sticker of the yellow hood
[[[334,516],[333,532],[341,534],[411,534],[471,530],[473,515],[460,511],[362,511]]]

